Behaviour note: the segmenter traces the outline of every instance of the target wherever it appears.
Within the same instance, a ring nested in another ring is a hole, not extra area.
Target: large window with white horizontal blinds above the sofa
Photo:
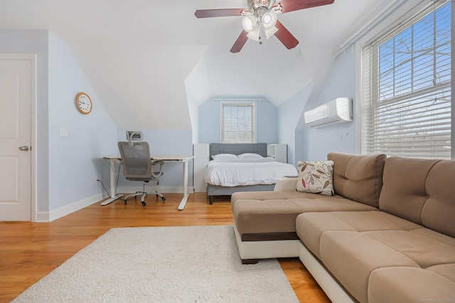
[[[451,1],[363,49],[362,153],[451,157]]]

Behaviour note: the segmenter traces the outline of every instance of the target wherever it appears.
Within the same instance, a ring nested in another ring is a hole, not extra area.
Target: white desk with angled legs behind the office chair
[[[110,164],[110,184],[111,184],[111,191],[109,193],[109,199],[102,202],[101,205],[107,205],[114,200],[118,199],[119,197],[115,197],[115,193],[117,192],[117,183],[115,180],[115,163],[117,161],[121,161],[122,158],[119,155],[113,156],[106,156],[103,157],[105,160],[109,160]],[[188,200],[188,161],[193,159],[193,156],[179,156],[179,155],[154,155],[151,156],[151,160],[163,160],[163,161],[178,161],[183,162],[183,198],[180,204],[178,204],[178,210],[181,211],[185,208],[186,201]]]

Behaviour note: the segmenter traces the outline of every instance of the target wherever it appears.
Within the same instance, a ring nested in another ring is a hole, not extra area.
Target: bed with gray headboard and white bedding
[[[277,180],[297,175],[294,165],[267,157],[267,143],[211,143],[209,157],[205,182],[210,204],[214,196],[273,190]]]

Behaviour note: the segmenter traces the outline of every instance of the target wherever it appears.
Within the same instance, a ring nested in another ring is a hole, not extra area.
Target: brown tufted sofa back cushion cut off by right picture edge
[[[454,180],[455,160],[388,158],[380,209],[454,237]]]

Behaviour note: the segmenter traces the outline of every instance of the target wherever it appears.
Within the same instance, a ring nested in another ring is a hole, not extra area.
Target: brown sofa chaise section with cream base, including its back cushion
[[[298,257],[296,217],[299,214],[378,210],[385,155],[330,153],[328,159],[335,163],[335,196],[297,192],[297,178],[290,177],[279,180],[274,192],[232,194],[237,246],[243,263],[254,263],[261,258]],[[340,192],[350,197],[343,197]]]

